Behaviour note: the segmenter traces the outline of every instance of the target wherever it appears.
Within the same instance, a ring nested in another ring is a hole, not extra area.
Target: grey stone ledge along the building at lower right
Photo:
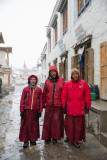
[[[107,147],[107,143],[105,143],[107,137],[104,137],[107,133],[107,101],[96,100],[92,102],[89,114],[86,115],[86,128]]]

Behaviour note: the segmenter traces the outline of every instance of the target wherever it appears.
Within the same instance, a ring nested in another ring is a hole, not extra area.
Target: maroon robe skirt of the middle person
[[[64,136],[64,120],[61,107],[46,107],[42,139],[60,140]]]

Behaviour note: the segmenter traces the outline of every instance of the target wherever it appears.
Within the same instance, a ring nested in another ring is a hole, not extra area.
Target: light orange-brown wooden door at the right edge
[[[107,100],[107,42],[100,44],[100,98]]]

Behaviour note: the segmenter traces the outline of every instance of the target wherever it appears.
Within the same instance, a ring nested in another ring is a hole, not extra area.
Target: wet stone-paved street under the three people
[[[14,92],[0,99],[0,159],[1,160],[106,160],[107,149],[87,133],[87,142],[77,149],[63,140],[58,144],[45,145],[40,140],[36,146],[23,149],[19,142],[20,96],[24,86],[16,86]],[[43,117],[40,119],[42,132]]]

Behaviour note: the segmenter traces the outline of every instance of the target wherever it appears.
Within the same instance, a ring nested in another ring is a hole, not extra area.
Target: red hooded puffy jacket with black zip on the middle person
[[[51,66],[50,70],[55,70],[58,75],[57,68],[55,66]],[[61,92],[64,85],[64,79],[59,77],[59,79],[55,82],[47,79],[45,81],[44,89],[43,89],[43,107],[45,106],[62,106],[61,103]]]

